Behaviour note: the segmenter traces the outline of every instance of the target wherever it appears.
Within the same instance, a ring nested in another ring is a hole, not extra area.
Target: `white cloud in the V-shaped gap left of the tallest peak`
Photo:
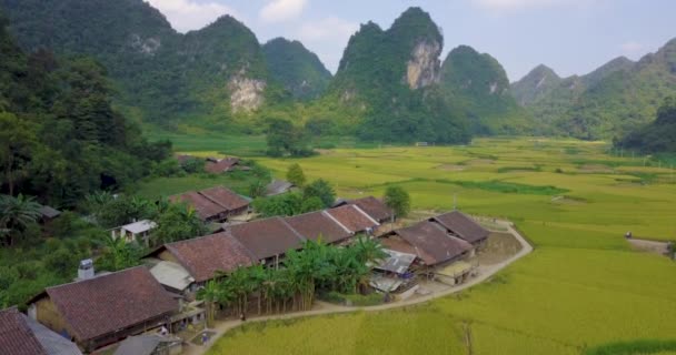
[[[315,51],[332,72],[338,69],[342,51],[359,24],[337,17],[306,22],[297,31],[300,41]]]

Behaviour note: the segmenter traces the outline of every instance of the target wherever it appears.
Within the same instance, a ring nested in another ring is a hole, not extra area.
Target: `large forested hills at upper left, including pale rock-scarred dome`
[[[228,16],[183,36],[142,0],[0,0],[0,7],[24,49],[100,60],[122,108],[140,108],[148,121],[231,120],[275,89],[256,36]]]

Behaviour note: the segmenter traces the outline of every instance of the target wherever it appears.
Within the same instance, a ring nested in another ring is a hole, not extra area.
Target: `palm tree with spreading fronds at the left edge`
[[[21,232],[40,219],[41,205],[33,197],[19,194],[17,197],[0,196],[0,230],[13,244],[12,232]]]

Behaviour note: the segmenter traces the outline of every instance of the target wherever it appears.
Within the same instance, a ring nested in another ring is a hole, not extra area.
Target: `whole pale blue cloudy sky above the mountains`
[[[676,37],[674,0],[146,0],[180,32],[221,14],[266,42],[300,40],[335,72],[347,41],[369,20],[388,28],[408,7],[443,28],[444,55],[469,44],[494,55],[511,81],[539,63],[584,74],[626,55],[636,60]]]

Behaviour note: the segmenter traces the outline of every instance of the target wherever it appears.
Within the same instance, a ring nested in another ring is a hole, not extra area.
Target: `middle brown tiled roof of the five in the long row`
[[[321,235],[322,242],[336,243],[351,235],[350,231],[336,223],[325,211],[310,212],[286,220],[300,235],[312,241]]]

